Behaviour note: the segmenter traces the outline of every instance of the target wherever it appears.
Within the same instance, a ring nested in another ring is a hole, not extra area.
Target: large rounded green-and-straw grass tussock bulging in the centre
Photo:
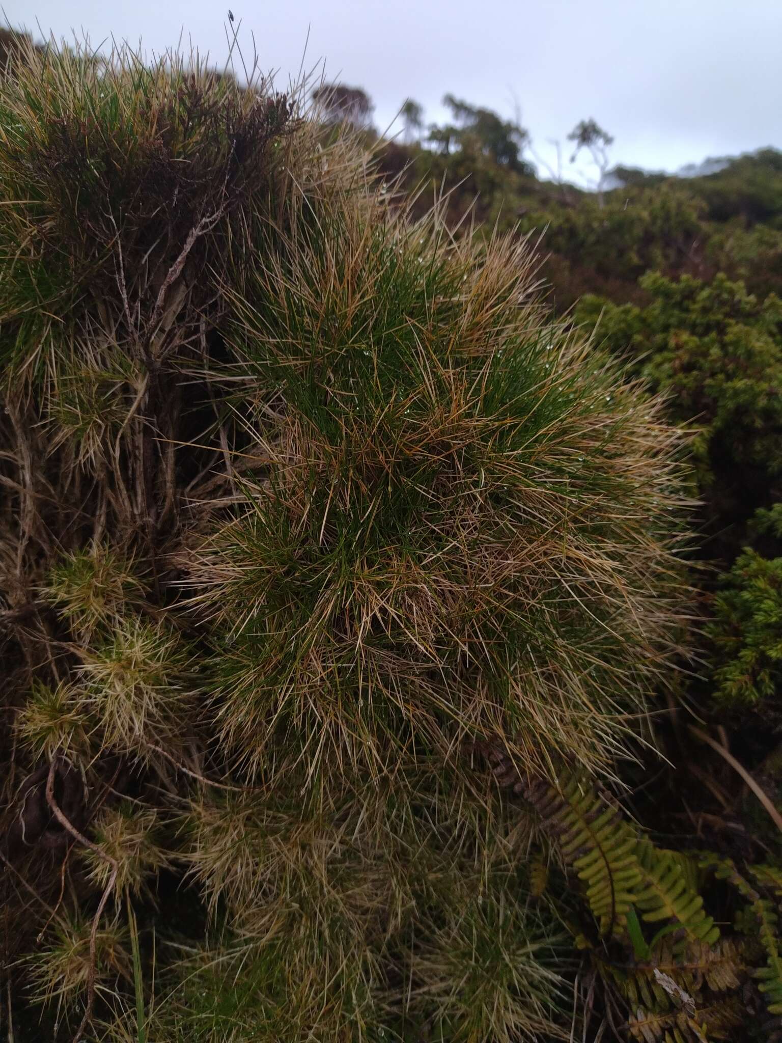
[[[310,205],[235,304],[263,482],[185,563],[226,746],[253,777],[497,735],[609,765],[676,651],[677,434],[527,304],[527,243]]]

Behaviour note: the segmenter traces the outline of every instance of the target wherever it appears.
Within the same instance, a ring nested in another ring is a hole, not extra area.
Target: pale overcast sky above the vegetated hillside
[[[309,31],[307,67],[320,59],[327,78],[364,87],[382,127],[408,96],[442,119],[450,91],[509,118],[518,103],[549,160],[547,140],[590,116],[614,136],[615,163],[650,169],[782,147],[782,0],[4,0],[3,10],[36,38],[75,30],[95,46],[114,34],[147,53],[184,33],[222,67],[228,3],[243,50],[254,34],[282,86]]]

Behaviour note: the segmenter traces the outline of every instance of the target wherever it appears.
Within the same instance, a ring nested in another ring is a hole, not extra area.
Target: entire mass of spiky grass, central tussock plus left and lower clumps
[[[680,436],[529,241],[413,221],[302,98],[126,49],[0,82],[4,956],[77,1039],[566,1039],[470,751],[647,737]]]

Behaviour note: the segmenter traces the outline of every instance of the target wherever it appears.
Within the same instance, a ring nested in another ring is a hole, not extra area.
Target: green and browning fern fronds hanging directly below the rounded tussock
[[[719,941],[697,891],[695,859],[658,848],[575,774],[556,786],[522,780],[520,790],[582,881],[601,933],[625,946],[624,966],[596,950],[593,959],[631,1013],[630,1037],[643,1043],[729,1039],[741,1021],[734,990],[746,980],[747,948]],[[641,922],[660,925],[651,942]],[[771,978],[763,987],[773,988]]]

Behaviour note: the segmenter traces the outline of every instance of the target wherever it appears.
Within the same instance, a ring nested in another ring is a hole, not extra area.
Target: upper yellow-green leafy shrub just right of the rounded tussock
[[[704,284],[650,273],[640,285],[647,307],[587,297],[577,319],[600,319],[598,340],[667,395],[671,419],[697,429],[699,491],[709,529],[732,542],[730,558],[780,485],[782,302],[760,301],[724,275]]]

